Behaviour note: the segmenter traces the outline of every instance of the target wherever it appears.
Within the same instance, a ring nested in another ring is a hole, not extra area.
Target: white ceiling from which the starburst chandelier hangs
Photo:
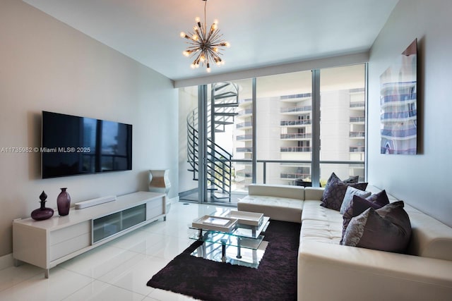
[[[202,0],[23,0],[172,80],[191,69],[179,37],[201,17]],[[231,47],[210,74],[367,51],[398,0],[210,0],[207,23]]]

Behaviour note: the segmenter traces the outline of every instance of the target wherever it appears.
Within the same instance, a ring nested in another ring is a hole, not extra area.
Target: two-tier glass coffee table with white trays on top
[[[189,227],[196,230],[190,238],[203,242],[191,255],[257,268],[268,245],[263,233],[269,220],[263,214],[227,209],[201,216]]]

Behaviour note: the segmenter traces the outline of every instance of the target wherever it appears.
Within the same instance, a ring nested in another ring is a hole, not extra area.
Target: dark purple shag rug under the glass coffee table
[[[266,252],[257,269],[191,256],[194,242],[148,281],[148,286],[200,300],[297,300],[301,224],[270,221]]]

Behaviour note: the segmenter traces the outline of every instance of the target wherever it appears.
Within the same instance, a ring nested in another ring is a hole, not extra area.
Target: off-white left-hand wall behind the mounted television
[[[41,111],[131,123],[133,170],[40,179],[40,154],[0,152],[0,257],[12,252],[13,219],[39,195],[57,207],[148,189],[148,170],[170,168],[178,192],[177,90],[168,78],[17,0],[0,2],[0,149],[39,147]],[[70,133],[68,133],[70,135]]]

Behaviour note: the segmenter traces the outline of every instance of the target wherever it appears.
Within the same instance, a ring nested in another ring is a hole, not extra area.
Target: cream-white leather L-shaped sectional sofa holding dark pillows
[[[321,207],[322,195],[323,188],[254,184],[237,204],[242,211],[302,223],[298,300],[452,300],[451,227],[405,201],[412,226],[408,254],[340,245],[343,216]]]

